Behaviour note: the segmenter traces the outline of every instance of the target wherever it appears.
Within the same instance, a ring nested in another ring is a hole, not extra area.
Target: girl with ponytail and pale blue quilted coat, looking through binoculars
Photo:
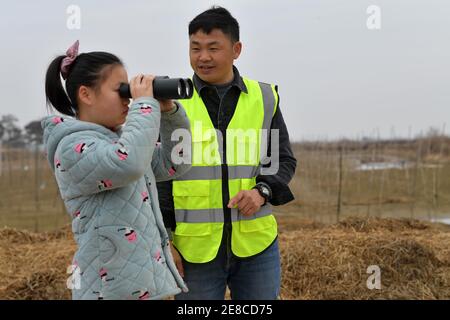
[[[153,78],[132,78],[128,108],[118,93],[127,72],[110,53],[78,55],[77,41],[47,70],[47,102],[69,116],[47,117],[42,127],[78,244],[73,299],[162,299],[187,291],[170,252],[155,180],[190,168],[170,157],[171,132],[189,129],[189,121],[178,103],[153,98]]]

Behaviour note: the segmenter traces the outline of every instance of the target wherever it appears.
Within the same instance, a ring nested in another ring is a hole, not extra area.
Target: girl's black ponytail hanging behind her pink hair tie
[[[61,82],[61,63],[65,57],[59,56],[50,63],[45,76],[45,95],[47,104],[51,104],[62,114],[75,116],[73,105]]]

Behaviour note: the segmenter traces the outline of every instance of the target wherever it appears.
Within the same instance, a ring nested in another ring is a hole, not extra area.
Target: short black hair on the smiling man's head
[[[213,29],[221,30],[233,43],[239,41],[239,23],[227,9],[219,6],[213,6],[196,16],[189,23],[189,36],[199,30],[209,34]]]

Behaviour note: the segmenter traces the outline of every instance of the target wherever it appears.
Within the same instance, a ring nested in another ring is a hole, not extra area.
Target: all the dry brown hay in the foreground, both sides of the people
[[[282,299],[450,299],[450,228],[416,220],[347,219],[325,226],[279,219]],[[0,230],[0,299],[70,299],[76,250],[68,227]],[[381,269],[369,290],[367,267]]]

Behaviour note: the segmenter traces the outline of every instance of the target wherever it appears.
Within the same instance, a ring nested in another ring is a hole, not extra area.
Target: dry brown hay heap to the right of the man
[[[280,235],[283,299],[450,299],[450,230],[416,220],[347,219]],[[370,265],[381,290],[367,288]]]

